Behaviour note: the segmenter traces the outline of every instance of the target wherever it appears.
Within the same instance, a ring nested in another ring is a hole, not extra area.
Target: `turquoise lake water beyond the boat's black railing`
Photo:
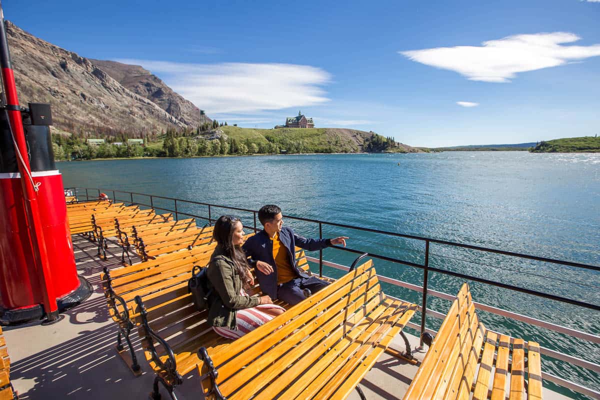
[[[399,164],[398,164],[399,163]],[[284,214],[358,225],[541,257],[600,264],[600,154],[445,152],[397,155],[289,155],[59,163],[65,187],[102,188],[259,209],[281,206]],[[90,192],[92,193],[92,192]],[[116,193],[117,198],[128,195]],[[148,198],[134,197],[139,203]],[[155,206],[173,209],[172,201]],[[180,212],[208,216],[205,206],[178,204]],[[237,213],[213,209],[212,216]],[[286,219],[306,236],[317,225]],[[323,236],[344,235],[361,251],[422,264],[424,242],[337,227]],[[318,253],[310,254],[318,257]],[[356,255],[335,249],[327,260],[349,264]],[[376,260],[377,271],[422,285],[422,271]],[[430,265],[600,304],[600,273],[574,267],[431,245]],[[324,273],[339,276],[340,271]],[[429,287],[456,293],[461,280],[431,273]],[[600,334],[600,313],[470,282],[476,301],[542,320]],[[420,303],[398,287],[386,293]],[[449,302],[429,300],[446,312]],[[480,313],[487,327],[533,339],[542,346],[600,362],[598,345],[496,315]],[[413,318],[419,323],[420,316]],[[428,318],[435,329],[439,320]],[[600,390],[600,377],[544,357],[544,368]]]

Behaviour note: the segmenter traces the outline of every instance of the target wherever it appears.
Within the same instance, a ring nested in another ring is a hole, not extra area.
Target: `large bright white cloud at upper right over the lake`
[[[436,47],[398,52],[421,64],[456,71],[470,80],[510,82],[517,73],[600,56],[600,44],[563,46],[580,40],[569,32],[514,35],[482,46]]]

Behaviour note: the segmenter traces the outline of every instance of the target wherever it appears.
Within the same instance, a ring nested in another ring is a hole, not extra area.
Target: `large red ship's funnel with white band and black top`
[[[0,67],[0,322],[52,322],[91,286],[77,276],[50,105],[19,106],[1,4]]]

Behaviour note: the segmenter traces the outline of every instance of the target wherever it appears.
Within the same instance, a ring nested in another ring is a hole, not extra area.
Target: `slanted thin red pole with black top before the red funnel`
[[[46,318],[49,321],[58,318],[58,305],[52,285],[52,274],[50,272],[50,263],[44,233],[40,219],[40,210],[38,206],[37,191],[34,188],[29,177],[31,176],[31,167],[29,166],[29,157],[25,141],[25,132],[23,131],[23,121],[17,97],[17,88],[14,82],[13,68],[11,67],[10,53],[8,52],[8,42],[6,28],[4,24],[4,13],[0,3],[0,68],[2,69],[2,81],[4,83],[4,92],[6,96],[6,108],[10,120],[11,131],[16,141],[15,152],[20,154],[17,164],[21,175],[21,187],[26,210],[26,219],[29,226],[29,239],[31,240],[31,250],[34,257],[35,270],[37,272],[40,289],[43,293],[43,305]],[[34,180],[35,182],[35,180]]]

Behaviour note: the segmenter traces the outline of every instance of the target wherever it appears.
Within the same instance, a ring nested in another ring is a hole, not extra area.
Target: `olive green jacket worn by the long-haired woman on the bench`
[[[210,297],[208,323],[211,326],[224,326],[236,329],[236,309],[259,305],[259,296],[241,296],[242,277],[239,276],[233,260],[223,254],[217,246],[208,264],[209,284],[214,288]]]

